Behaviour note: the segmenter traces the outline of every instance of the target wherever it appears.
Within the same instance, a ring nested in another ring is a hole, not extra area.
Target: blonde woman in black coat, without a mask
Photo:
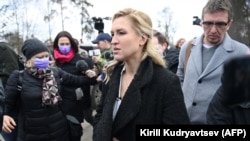
[[[113,16],[114,61],[94,120],[94,141],[134,141],[138,124],[189,124],[178,77],[152,43],[152,21],[136,9]]]

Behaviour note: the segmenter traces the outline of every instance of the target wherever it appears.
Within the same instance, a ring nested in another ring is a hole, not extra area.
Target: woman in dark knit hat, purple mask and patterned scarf
[[[16,128],[18,141],[71,141],[61,109],[62,87],[96,83],[96,78],[50,66],[49,50],[40,40],[26,40],[22,53],[26,57],[23,72],[14,71],[6,84],[2,131],[11,133]],[[17,90],[20,85],[21,91]],[[18,122],[11,116],[13,111],[19,111]]]

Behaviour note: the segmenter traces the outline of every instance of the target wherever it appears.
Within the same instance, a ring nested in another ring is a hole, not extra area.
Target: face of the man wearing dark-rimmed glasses
[[[228,19],[228,13],[218,11],[214,13],[205,13],[202,21],[204,30],[204,43],[208,45],[218,45],[229,30],[231,21]]]

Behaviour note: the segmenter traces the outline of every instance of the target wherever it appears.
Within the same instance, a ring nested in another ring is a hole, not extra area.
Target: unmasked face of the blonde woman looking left
[[[119,17],[112,23],[112,47],[114,59],[126,61],[140,59],[146,39],[133,28],[128,17]]]

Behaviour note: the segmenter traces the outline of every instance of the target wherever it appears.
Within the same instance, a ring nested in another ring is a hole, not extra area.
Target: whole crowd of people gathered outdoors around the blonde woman
[[[146,13],[121,9],[113,15],[111,34],[99,33],[92,41],[100,54],[90,55],[70,32],[61,31],[50,47],[27,39],[23,68],[1,43],[0,57],[6,58],[0,60],[2,136],[6,141],[80,141],[84,120],[93,126],[93,141],[134,141],[136,125],[249,124],[248,89],[240,91],[246,98],[237,99],[229,87],[238,81],[249,85],[228,75],[233,66],[228,61],[250,52],[228,34],[232,8],[229,0],[208,0],[203,33],[176,44],[152,29]],[[96,109],[92,86],[101,91]]]

